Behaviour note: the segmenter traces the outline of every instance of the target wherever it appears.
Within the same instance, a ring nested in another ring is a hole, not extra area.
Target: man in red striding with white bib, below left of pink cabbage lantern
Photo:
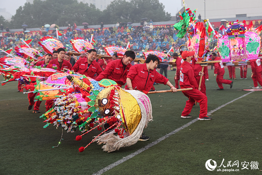
[[[214,59],[214,61],[218,61],[220,60],[219,57],[217,57],[217,54],[216,53],[212,53],[212,59]],[[224,65],[222,62],[220,63],[214,63],[214,66],[215,66],[215,71],[217,73],[217,85],[219,87],[219,89],[217,90],[224,90],[224,87],[222,85],[223,84],[228,84],[230,85],[230,88],[232,88],[232,85],[233,85],[233,81],[231,80],[225,80],[223,77],[224,77],[224,74],[225,74],[225,68],[224,68]]]

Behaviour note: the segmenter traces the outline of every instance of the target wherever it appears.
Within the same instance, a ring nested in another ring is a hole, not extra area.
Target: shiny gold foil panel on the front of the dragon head
[[[139,124],[142,116],[141,116],[141,110],[139,105],[137,104],[137,100],[128,92],[125,92],[124,90],[120,89],[120,102],[121,107],[124,112],[126,125],[128,127],[129,134],[131,135],[134,130],[137,128],[137,125]]]

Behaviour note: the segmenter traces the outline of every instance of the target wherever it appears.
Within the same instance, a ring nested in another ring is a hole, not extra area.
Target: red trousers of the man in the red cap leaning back
[[[207,115],[207,97],[206,95],[204,95],[202,92],[200,92],[196,88],[193,88],[192,90],[185,90],[182,92],[187,98],[189,98],[186,101],[186,106],[184,108],[184,111],[182,112],[182,115],[187,116],[188,114],[190,114],[193,105],[197,101],[200,105],[199,118],[206,117]]]

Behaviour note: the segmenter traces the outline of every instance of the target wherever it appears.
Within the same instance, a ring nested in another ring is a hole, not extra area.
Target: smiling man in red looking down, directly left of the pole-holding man
[[[114,80],[118,86],[123,86],[126,82],[126,76],[129,69],[132,66],[130,63],[135,59],[135,57],[136,54],[134,51],[127,50],[121,60],[109,62],[107,68],[95,80],[100,81],[102,79],[110,79]]]

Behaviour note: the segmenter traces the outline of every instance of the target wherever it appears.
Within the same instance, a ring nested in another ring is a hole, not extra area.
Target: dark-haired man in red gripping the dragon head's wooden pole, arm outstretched
[[[177,92],[177,89],[169,82],[169,80],[163,75],[159,74],[155,68],[159,64],[160,60],[156,55],[148,55],[145,64],[136,64],[130,68],[127,75],[125,88],[129,90],[140,90],[147,94],[147,92],[153,86],[153,83],[162,83],[168,85],[172,92]],[[140,141],[146,141],[150,137],[141,135]]]

